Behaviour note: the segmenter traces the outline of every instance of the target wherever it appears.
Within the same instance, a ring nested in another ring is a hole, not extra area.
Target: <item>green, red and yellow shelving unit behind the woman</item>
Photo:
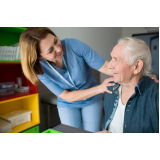
[[[22,27],[0,27],[0,46],[18,43],[21,33],[25,30],[26,28]],[[30,91],[28,93],[15,92],[10,95],[0,95],[0,115],[18,109],[31,110],[31,121],[14,127],[12,133],[37,133],[40,124],[38,87],[25,78],[20,61],[0,60],[0,82],[16,83],[17,77],[22,78],[22,85],[29,86]]]

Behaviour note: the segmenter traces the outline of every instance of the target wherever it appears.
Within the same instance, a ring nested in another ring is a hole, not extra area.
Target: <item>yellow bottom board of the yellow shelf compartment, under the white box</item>
[[[22,132],[22,131],[26,130],[27,128],[31,128],[31,127],[36,126],[38,124],[39,124],[39,122],[35,122],[35,121],[26,122],[26,123],[23,123],[21,125],[18,125],[16,127],[12,128],[12,131],[9,133]]]

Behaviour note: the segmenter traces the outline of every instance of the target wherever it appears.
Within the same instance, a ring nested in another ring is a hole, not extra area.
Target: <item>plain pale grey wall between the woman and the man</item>
[[[105,60],[111,59],[110,52],[121,37],[121,27],[50,27],[59,39],[76,38],[89,45]],[[107,75],[100,74],[100,82]]]

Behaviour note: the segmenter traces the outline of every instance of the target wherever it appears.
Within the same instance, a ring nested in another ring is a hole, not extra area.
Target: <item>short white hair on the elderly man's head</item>
[[[129,65],[133,65],[137,60],[143,61],[142,76],[150,76],[152,72],[152,57],[147,44],[135,37],[125,37],[118,40],[118,44],[124,44],[124,54]]]

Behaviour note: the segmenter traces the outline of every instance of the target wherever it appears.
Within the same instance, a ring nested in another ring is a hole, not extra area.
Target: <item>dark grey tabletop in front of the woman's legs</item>
[[[92,133],[92,132],[85,131],[83,129],[79,129],[75,127],[71,127],[65,124],[60,124],[52,129],[63,132],[63,133]]]

